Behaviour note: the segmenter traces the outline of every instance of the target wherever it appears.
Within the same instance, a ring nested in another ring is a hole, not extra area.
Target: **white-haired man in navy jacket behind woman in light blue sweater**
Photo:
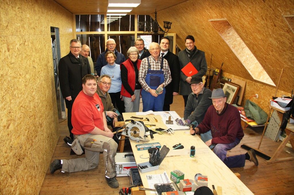
[[[112,51],[116,55],[116,60],[115,60],[116,64],[121,64],[124,61],[126,61],[125,56],[122,53],[118,52],[115,47],[116,47],[116,43],[115,43],[114,39],[108,39],[106,41],[106,50],[105,50],[105,52],[101,53],[98,56],[97,61],[96,61],[95,69],[97,71],[98,76],[100,76],[102,67],[107,64],[107,61],[105,59],[106,52]]]

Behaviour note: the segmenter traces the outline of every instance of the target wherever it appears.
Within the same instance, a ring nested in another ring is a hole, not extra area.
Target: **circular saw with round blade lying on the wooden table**
[[[145,127],[143,123],[132,120],[126,125],[126,128],[121,132],[121,135],[127,136],[132,140],[136,140],[137,142],[140,140],[149,141],[149,139],[146,139],[146,129],[148,128]]]

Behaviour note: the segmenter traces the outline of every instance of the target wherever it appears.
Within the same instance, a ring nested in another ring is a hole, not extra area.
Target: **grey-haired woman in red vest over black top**
[[[121,63],[121,95],[125,104],[125,112],[139,112],[142,86],[138,81],[141,61],[139,51],[130,47],[128,59]]]

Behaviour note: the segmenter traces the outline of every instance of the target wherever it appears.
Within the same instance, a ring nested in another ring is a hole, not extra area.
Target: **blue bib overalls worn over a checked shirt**
[[[163,58],[161,59],[160,70],[151,70],[151,65],[149,63],[149,57],[147,57],[148,61],[148,71],[146,74],[145,82],[151,88],[156,90],[159,85],[161,85],[164,81],[164,73],[163,73]],[[142,102],[143,102],[143,112],[147,112],[148,110],[153,111],[163,111],[163,103],[165,96],[165,88],[163,88],[163,93],[154,97],[151,93],[142,90]]]

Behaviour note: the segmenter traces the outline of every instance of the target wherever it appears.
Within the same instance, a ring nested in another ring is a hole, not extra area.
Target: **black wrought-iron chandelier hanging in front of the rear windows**
[[[155,8],[155,19],[153,22],[148,22],[148,21],[144,21],[144,22],[138,22],[139,28],[140,29],[145,29],[144,34],[148,33],[149,34],[166,34],[169,29],[171,29],[171,22],[168,21],[163,21],[163,28],[165,28],[164,30],[162,30],[159,27],[159,24],[157,22],[157,12],[156,12],[156,8]]]

